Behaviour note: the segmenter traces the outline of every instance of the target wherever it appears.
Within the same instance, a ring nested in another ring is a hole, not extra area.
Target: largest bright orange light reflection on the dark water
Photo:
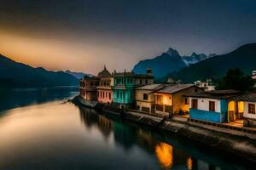
[[[173,164],[172,146],[166,143],[160,143],[155,146],[155,154],[162,167],[171,168]]]

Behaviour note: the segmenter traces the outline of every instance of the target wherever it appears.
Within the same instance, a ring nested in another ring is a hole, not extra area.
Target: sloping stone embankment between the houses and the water
[[[79,102],[77,97],[71,101],[73,104],[86,107]],[[238,156],[242,160],[256,163],[256,134],[237,133],[238,131],[233,129],[202,126],[195,122],[180,122],[172,118],[152,116],[136,111],[115,110],[109,106],[95,109],[101,111],[102,114],[119,116],[127,122],[136,122],[153,127],[155,130],[173,133],[194,143],[204,144],[212,150],[221,150],[227,154]]]

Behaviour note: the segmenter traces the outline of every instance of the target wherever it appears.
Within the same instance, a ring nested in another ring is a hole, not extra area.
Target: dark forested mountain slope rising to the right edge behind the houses
[[[245,74],[251,75],[252,71],[256,70],[256,43],[243,45],[229,54],[202,60],[166,77],[181,79],[183,82],[205,81],[207,78],[216,80],[231,68],[240,68]]]

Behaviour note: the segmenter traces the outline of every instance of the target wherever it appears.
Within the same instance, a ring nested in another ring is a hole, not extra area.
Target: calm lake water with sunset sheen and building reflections
[[[65,102],[77,93],[2,89],[0,169],[248,168],[186,139]]]

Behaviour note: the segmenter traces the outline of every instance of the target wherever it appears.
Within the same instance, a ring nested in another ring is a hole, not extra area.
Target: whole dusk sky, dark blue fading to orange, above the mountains
[[[48,70],[130,71],[175,48],[256,42],[255,0],[0,0],[0,54]]]

